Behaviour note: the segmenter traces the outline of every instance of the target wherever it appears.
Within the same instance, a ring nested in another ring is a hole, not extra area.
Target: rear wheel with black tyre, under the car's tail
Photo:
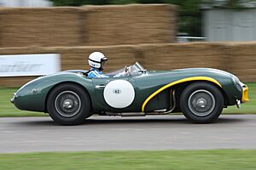
[[[47,109],[55,122],[78,125],[90,116],[90,97],[79,85],[64,83],[51,90]]]

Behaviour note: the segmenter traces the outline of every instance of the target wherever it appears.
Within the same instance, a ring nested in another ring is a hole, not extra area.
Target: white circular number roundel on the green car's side
[[[108,105],[114,108],[125,108],[131,105],[135,92],[131,82],[114,80],[106,85],[103,95]]]

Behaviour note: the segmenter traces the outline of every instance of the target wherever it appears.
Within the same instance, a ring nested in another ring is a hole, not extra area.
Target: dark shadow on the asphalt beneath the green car
[[[247,119],[241,118],[241,117],[234,117],[234,116],[225,116],[225,117],[219,117],[216,122],[213,123],[208,123],[208,124],[222,124],[222,123],[237,123],[237,122],[245,122]],[[132,118],[116,118],[116,117],[104,117],[104,118],[99,118],[99,117],[90,117],[89,119],[84,120],[84,122],[81,125],[78,126],[90,126],[90,125],[108,125],[108,124],[196,124],[193,122],[189,122],[185,117],[183,116],[168,116],[168,117],[163,117],[160,118],[160,116],[155,117],[150,116],[148,118],[147,116],[145,118],[143,117],[132,117]],[[20,125],[26,125],[26,126],[59,126],[56,122],[53,120],[45,119],[40,120],[40,118],[37,118],[35,120],[27,120],[27,121],[22,121],[22,122],[15,122],[15,124],[20,124]],[[207,125],[208,125],[207,124]],[[206,124],[200,124],[200,125],[206,125]]]

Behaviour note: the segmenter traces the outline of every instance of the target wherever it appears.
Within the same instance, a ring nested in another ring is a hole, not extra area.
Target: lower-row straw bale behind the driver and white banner
[[[108,47],[55,47],[55,48],[0,48],[0,55],[8,54],[61,54],[61,70],[90,70],[88,56],[94,51],[101,51],[108,57],[107,71],[116,71],[125,65],[136,62],[136,50],[133,46]],[[0,77],[0,87],[20,87],[35,77]]]

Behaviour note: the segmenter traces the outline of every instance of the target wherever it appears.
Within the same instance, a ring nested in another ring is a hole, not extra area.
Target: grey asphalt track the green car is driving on
[[[192,124],[183,116],[92,116],[79,126],[49,117],[0,118],[0,153],[82,150],[256,149],[256,115]]]

